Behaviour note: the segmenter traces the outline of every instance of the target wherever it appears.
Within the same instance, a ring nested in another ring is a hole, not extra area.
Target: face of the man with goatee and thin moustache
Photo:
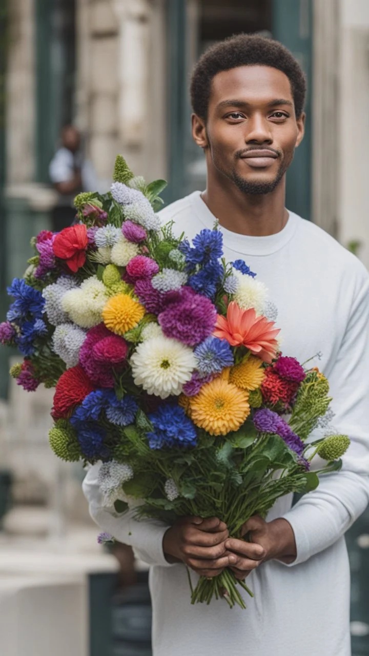
[[[269,194],[282,180],[303,138],[305,115],[296,119],[291,85],[269,66],[239,66],[217,73],[206,124],[192,117],[207,167],[244,194]]]

